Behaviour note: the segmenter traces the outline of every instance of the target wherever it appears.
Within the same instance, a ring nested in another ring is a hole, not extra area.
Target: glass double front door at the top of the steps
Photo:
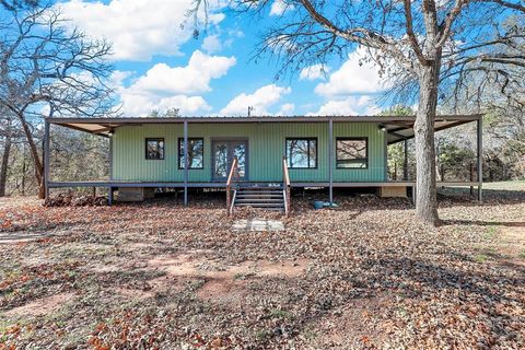
[[[211,152],[213,180],[226,180],[233,159],[237,158],[238,176],[248,179],[248,141],[247,140],[213,140]]]

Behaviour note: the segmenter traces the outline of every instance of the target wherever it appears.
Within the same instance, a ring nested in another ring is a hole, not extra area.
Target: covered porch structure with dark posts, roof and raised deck
[[[334,188],[364,188],[364,187],[405,187],[412,191],[412,197],[416,194],[417,186],[413,178],[408,178],[408,140],[412,139],[413,133],[413,116],[323,116],[323,117],[179,117],[179,118],[107,118],[107,119],[88,119],[88,118],[50,118],[45,124],[45,147],[44,147],[44,162],[45,162],[45,182],[46,182],[46,197],[49,197],[49,189],[51,188],[74,188],[74,187],[91,187],[91,188],[106,188],[108,191],[108,201],[113,202],[114,191],[118,188],[142,187],[142,188],[162,188],[173,187],[184,191],[184,203],[188,203],[188,192],[191,188],[226,188],[226,180],[224,182],[196,182],[191,180],[187,163],[183,166],[182,180],[120,180],[109,176],[108,179],[101,180],[54,180],[50,178],[50,147],[51,147],[51,126],[67,127],[84,132],[90,132],[101,137],[109,138],[109,154],[113,153],[113,135],[115,130],[124,126],[144,126],[154,124],[167,124],[167,125],[182,125],[183,131],[183,144],[184,144],[184,159],[188,160],[187,145],[188,145],[188,128],[190,126],[199,127],[203,124],[257,124],[262,125],[266,122],[279,122],[279,124],[318,124],[324,125],[326,135],[324,136],[324,142],[327,152],[327,166],[326,177],[320,180],[304,182],[301,179],[294,179],[293,176],[290,180],[290,187],[292,188],[305,188],[305,187],[325,187],[328,189],[328,201],[334,202]],[[384,178],[373,182],[360,182],[349,180],[341,182],[340,178],[335,178],[335,133],[334,127],[339,122],[373,122],[377,126],[377,129],[384,133]],[[435,130],[445,130],[459,125],[476,122],[477,133],[477,159],[476,159],[476,175],[470,180],[451,180],[451,182],[438,182],[436,186],[443,187],[476,187],[478,200],[482,199],[482,119],[481,115],[450,115],[439,116],[435,119]],[[396,179],[389,179],[387,176],[387,147],[389,144],[399,143],[404,144],[405,162],[402,164],[402,176]],[[279,155],[281,156],[281,155]],[[113,156],[109,156],[109,174],[113,174]],[[254,185],[270,185],[276,182],[256,182]]]

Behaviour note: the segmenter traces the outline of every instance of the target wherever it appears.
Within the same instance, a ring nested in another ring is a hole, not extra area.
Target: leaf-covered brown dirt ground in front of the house
[[[0,349],[524,349],[525,183],[337,194],[290,218],[221,196],[113,207],[0,200]],[[232,230],[267,217],[284,230]]]

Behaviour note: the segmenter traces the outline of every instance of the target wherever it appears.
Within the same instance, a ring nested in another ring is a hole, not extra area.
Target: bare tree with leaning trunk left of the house
[[[34,131],[42,117],[102,117],[113,110],[113,90],[105,83],[110,47],[70,30],[52,8],[8,8],[0,20],[0,106],[20,122],[43,198],[44,164]]]

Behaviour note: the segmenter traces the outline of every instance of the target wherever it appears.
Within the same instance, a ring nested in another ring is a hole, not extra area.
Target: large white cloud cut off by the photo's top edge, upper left
[[[63,15],[88,35],[113,43],[114,59],[149,60],[155,54],[182,55],[179,47],[191,38],[192,26],[186,12],[192,0],[112,0],[60,3]],[[209,23],[219,23],[220,1],[210,2]],[[201,18],[202,15],[199,15]],[[186,23],[187,25],[182,26]]]

